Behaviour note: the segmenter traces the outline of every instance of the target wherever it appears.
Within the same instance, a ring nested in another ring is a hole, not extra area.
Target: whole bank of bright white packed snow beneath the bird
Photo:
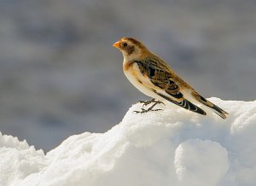
[[[137,114],[137,103],[106,133],[47,154],[0,133],[0,185],[255,186],[256,101],[210,100],[228,119],[169,104]]]

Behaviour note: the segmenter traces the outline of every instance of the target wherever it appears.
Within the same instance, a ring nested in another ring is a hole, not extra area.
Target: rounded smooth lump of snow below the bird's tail
[[[189,139],[176,148],[174,166],[183,185],[217,185],[229,170],[228,152],[218,142]]]

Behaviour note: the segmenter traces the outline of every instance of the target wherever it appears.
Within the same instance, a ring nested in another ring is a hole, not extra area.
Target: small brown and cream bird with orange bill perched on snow
[[[156,104],[167,101],[189,111],[207,115],[201,108],[203,106],[210,108],[209,110],[217,113],[222,119],[227,118],[229,113],[201,96],[180,78],[166,61],[136,38],[120,38],[113,47],[119,49],[123,55],[123,71],[126,78],[143,94],[153,98],[151,101],[143,102],[144,105],[154,102],[153,106],[137,113],[146,113],[153,110]],[[157,110],[160,109],[153,111]]]

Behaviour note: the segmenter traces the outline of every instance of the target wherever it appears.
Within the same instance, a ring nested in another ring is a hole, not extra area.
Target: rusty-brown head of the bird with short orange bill
[[[113,46],[122,52],[127,61],[139,60],[149,54],[146,46],[135,38],[121,38]]]

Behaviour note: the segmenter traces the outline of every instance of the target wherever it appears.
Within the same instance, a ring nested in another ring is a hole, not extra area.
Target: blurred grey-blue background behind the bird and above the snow
[[[123,74],[121,37],[206,97],[255,99],[255,1],[0,0],[0,131],[48,151],[117,125],[148,99]]]

